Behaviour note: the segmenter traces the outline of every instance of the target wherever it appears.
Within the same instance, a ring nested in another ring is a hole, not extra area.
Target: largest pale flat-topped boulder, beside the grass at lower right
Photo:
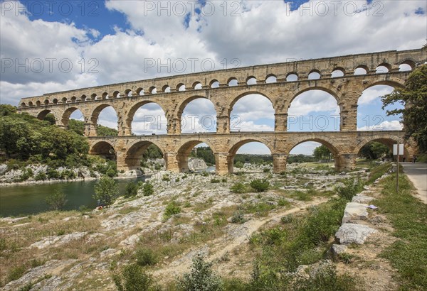
[[[371,234],[376,232],[378,232],[376,229],[363,224],[342,224],[335,237],[341,244],[357,243],[361,245]]]

